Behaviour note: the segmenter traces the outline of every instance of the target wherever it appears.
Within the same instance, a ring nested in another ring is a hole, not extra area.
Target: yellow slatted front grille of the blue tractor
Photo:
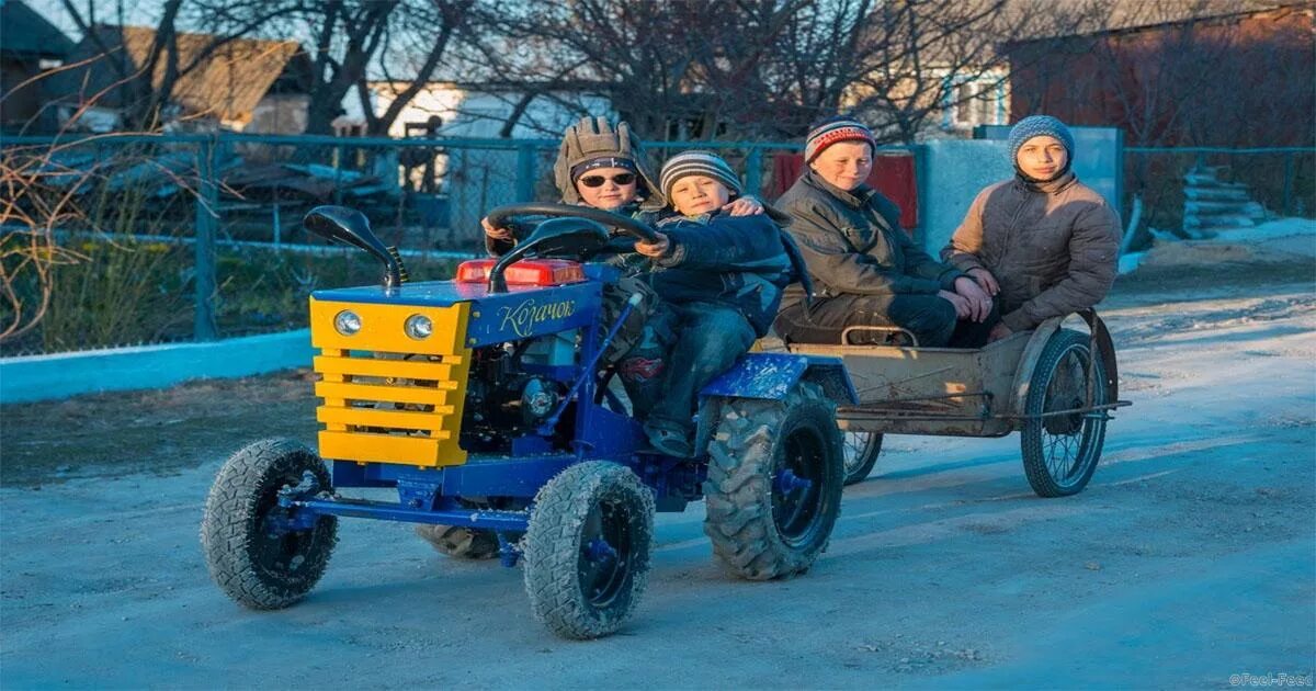
[[[324,424],[320,455],[336,461],[422,467],[465,463],[466,451],[458,445],[458,434],[470,350],[458,345],[462,336],[442,338],[436,329],[436,342],[425,344],[430,350],[428,353],[399,353],[397,346],[416,342],[405,337],[379,338],[378,333],[365,333],[365,329],[354,337],[343,337],[329,326],[330,334],[320,336],[322,332],[316,326],[325,321],[316,319],[317,312],[330,315],[338,307],[342,305],[312,300],[312,340],[321,349],[321,355],[315,358],[315,370],[321,376],[316,382],[316,396],[322,399],[316,408],[316,420]],[[415,312],[392,305],[353,308],[362,312],[362,321],[390,325],[396,321],[399,332],[405,317],[403,312]],[[443,316],[447,315],[436,313],[436,324]],[[466,320],[454,321],[461,322],[461,333],[465,334]],[[359,336],[365,338],[358,341]],[[333,347],[349,342],[354,347]],[[391,350],[378,349],[380,345]],[[370,346],[376,349],[358,350]]]

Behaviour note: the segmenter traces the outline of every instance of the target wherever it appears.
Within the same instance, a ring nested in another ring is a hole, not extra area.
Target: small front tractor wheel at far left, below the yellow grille
[[[211,578],[229,598],[251,609],[288,607],[320,582],[338,536],[338,520],[320,516],[313,528],[275,532],[279,490],[312,474],[332,490],[320,458],[292,440],[247,445],[220,469],[205,500],[201,550]]]

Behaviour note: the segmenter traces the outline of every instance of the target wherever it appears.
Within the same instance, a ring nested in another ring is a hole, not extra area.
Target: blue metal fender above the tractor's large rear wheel
[[[859,396],[841,358],[746,353],[729,370],[699,391],[700,397],[782,400],[800,379],[815,382],[837,405],[858,404]]]

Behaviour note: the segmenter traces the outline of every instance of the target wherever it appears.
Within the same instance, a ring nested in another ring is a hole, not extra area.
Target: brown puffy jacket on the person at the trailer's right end
[[[996,276],[1001,321],[1016,332],[1101,301],[1119,255],[1119,215],[1073,172],[983,190],[941,250],[961,271]]]

